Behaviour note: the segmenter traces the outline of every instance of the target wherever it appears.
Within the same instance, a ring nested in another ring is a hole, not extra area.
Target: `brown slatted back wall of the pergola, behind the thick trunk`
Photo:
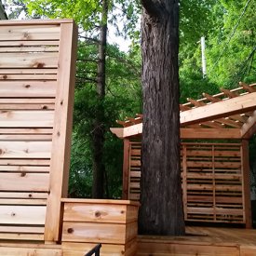
[[[244,223],[240,143],[182,143],[186,221]],[[141,143],[130,142],[129,199],[140,200]]]

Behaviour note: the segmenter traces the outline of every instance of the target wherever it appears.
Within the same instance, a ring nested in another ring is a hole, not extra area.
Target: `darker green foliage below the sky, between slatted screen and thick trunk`
[[[79,60],[93,60],[97,48],[80,43]],[[122,191],[123,141],[115,138],[109,128],[116,119],[141,113],[141,59],[136,52],[120,52],[115,46],[107,48],[106,96],[99,101],[93,79],[95,62],[78,61],[74,100],[74,142],[70,178],[70,194],[91,196],[92,132],[96,110],[104,109],[103,128],[106,130],[104,163],[107,173],[107,197],[117,198]],[[78,179],[78,180],[77,180]]]

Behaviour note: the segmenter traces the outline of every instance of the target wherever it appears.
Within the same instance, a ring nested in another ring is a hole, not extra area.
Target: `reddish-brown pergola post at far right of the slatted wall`
[[[244,212],[246,218],[246,228],[251,228],[251,206],[250,206],[250,188],[249,188],[249,141],[242,140],[242,168],[243,168],[243,194],[244,194]]]

